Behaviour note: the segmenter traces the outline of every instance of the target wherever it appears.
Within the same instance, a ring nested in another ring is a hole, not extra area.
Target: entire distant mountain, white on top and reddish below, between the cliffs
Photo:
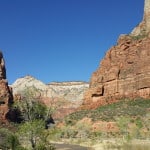
[[[13,95],[22,93],[26,88],[35,88],[36,95],[47,106],[57,109],[55,118],[61,118],[77,109],[83,103],[83,94],[89,88],[86,82],[43,82],[26,76],[17,79],[12,85]]]

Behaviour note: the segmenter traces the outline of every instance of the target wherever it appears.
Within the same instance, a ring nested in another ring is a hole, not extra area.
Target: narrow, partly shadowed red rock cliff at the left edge
[[[11,89],[6,80],[6,69],[2,52],[0,52],[0,122],[6,121],[9,106],[12,103]]]

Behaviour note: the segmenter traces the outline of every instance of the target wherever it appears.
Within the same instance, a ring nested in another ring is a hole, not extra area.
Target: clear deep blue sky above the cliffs
[[[120,34],[142,20],[144,0],[0,0],[0,49],[9,84],[32,75],[89,81]]]

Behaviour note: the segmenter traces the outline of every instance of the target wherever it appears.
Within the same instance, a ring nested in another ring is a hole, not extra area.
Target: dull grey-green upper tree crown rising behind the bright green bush
[[[14,108],[21,112],[25,121],[34,119],[46,120],[50,115],[47,107],[39,101],[34,90],[30,88],[22,92],[22,99],[21,101],[15,101]]]

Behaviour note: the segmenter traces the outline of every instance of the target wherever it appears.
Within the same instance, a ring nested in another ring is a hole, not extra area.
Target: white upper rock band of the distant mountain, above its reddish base
[[[67,101],[82,101],[84,91],[89,87],[86,82],[52,82],[44,84],[32,76],[17,79],[12,85],[13,94],[19,94],[25,88],[34,87],[39,97],[63,98]]]

